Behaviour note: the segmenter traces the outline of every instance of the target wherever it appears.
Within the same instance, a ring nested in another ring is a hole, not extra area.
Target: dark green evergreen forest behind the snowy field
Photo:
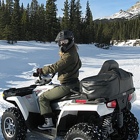
[[[131,20],[94,20],[88,0],[86,11],[81,10],[80,0],[65,0],[63,16],[58,17],[55,2],[46,0],[44,5],[32,0],[25,7],[20,0],[0,0],[0,40],[52,42],[63,29],[73,31],[76,43],[140,39],[140,16]]]

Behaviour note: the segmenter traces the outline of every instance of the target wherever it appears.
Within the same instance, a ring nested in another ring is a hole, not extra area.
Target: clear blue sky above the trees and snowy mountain
[[[31,3],[32,0],[20,0],[20,3],[23,3],[24,6],[27,6],[27,3]],[[65,0],[57,0],[57,9],[58,15],[62,16],[62,8],[64,6]],[[70,1],[70,0],[69,0]],[[75,0],[76,1],[76,0]],[[139,0],[88,0],[90,4],[90,8],[93,14],[93,19],[102,18],[105,16],[111,16],[112,14],[119,12],[122,10],[127,10],[131,6],[133,6]],[[39,4],[46,4],[46,0],[38,0]],[[86,3],[87,0],[80,0],[82,6],[83,14],[86,11]]]

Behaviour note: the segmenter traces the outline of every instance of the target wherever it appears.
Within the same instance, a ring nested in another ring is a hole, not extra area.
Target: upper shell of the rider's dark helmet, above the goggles
[[[65,39],[74,40],[73,33],[69,30],[62,30],[58,33],[55,41],[59,42],[61,40],[65,40]]]

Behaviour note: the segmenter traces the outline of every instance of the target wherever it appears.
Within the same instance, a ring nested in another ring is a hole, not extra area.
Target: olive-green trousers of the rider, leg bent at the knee
[[[59,99],[70,93],[70,89],[79,88],[79,81],[75,84],[60,85],[40,95],[39,105],[41,115],[52,113],[50,101]]]

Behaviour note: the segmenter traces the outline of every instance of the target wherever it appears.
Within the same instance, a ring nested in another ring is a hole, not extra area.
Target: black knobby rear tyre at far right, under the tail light
[[[124,113],[123,123],[123,127],[116,129],[119,131],[111,136],[111,140],[136,140],[139,134],[139,126],[137,119],[130,111]]]

